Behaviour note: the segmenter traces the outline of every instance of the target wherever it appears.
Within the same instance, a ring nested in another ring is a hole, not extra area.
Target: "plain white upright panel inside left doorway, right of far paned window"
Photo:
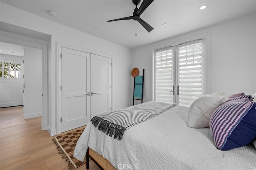
[[[24,48],[24,119],[42,114],[42,49]]]

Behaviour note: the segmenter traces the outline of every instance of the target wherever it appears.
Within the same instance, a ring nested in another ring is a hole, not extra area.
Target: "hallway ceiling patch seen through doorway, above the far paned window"
[[[0,54],[16,55],[23,57],[24,46],[0,42]]]

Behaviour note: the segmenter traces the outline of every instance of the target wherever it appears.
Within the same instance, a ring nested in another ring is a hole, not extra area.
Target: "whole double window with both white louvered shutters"
[[[203,41],[154,51],[154,100],[190,106],[202,96]]]

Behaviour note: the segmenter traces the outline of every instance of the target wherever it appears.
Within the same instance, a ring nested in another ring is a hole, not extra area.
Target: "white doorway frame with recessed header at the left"
[[[42,72],[41,87],[42,88],[41,88],[41,94],[40,94],[40,97],[42,99],[42,102],[40,105],[42,107],[41,128],[42,130],[47,130],[48,129],[48,50],[47,50],[47,47],[48,47],[48,43],[50,43],[51,36],[44,33],[39,33],[37,31],[33,31],[30,29],[18,27],[16,25],[11,25],[4,22],[0,22],[0,23],[1,23],[0,42],[40,49],[41,51],[40,52],[42,56],[42,59],[41,59],[41,72]],[[40,39],[37,39],[37,38],[40,38]],[[31,118],[31,117],[28,116],[25,118]]]

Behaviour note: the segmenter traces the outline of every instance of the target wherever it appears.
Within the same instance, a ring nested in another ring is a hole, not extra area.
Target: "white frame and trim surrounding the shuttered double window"
[[[151,47],[150,48],[150,100],[151,101],[155,101],[155,87],[154,87],[154,84],[155,84],[155,68],[154,68],[154,52],[158,49],[164,49],[166,47],[174,47],[174,46],[177,46],[178,45],[182,45],[182,44],[186,44],[186,43],[191,43],[193,41],[197,41],[199,39],[202,39],[202,45],[203,45],[203,48],[202,48],[202,53],[203,53],[203,56],[204,56],[204,63],[202,64],[202,76],[204,77],[203,80],[202,80],[202,84],[204,84],[204,90],[202,90],[202,95],[205,95],[205,94],[209,94],[210,93],[210,32],[208,33],[203,33],[203,34],[200,34],[200,35],[196,35],[196,36],[193,36],[193,37],[189,37],[189,38],[184,38],[184,39],[180,39],[179,37],[181,36],[177,36],[177,37],[174,37],[174,38],[171,38],[171,39],[168,39],[166,41],[163,41],[163,42],[167,42],[167,43],[163,43],[161,45],[158,45],[158,46],[155,46],[155,47]],[[176,50],[177,48],[174,48],[174,53],[178,53],[178,50]],[[174,60],[176,60],[176,57],[174,57]],[[177,68],[177,64],[178,62],[174,61],[176,63],[175,65],[175,70]],[[175,75],[176,76],[176,75]],[[175,80],[177,82],[177,77],[175,77]],[[176,92],[177,88],[175,89],[175,92]],[[178,100],[177,99],[178,96],[176,95],[176,101]]]

